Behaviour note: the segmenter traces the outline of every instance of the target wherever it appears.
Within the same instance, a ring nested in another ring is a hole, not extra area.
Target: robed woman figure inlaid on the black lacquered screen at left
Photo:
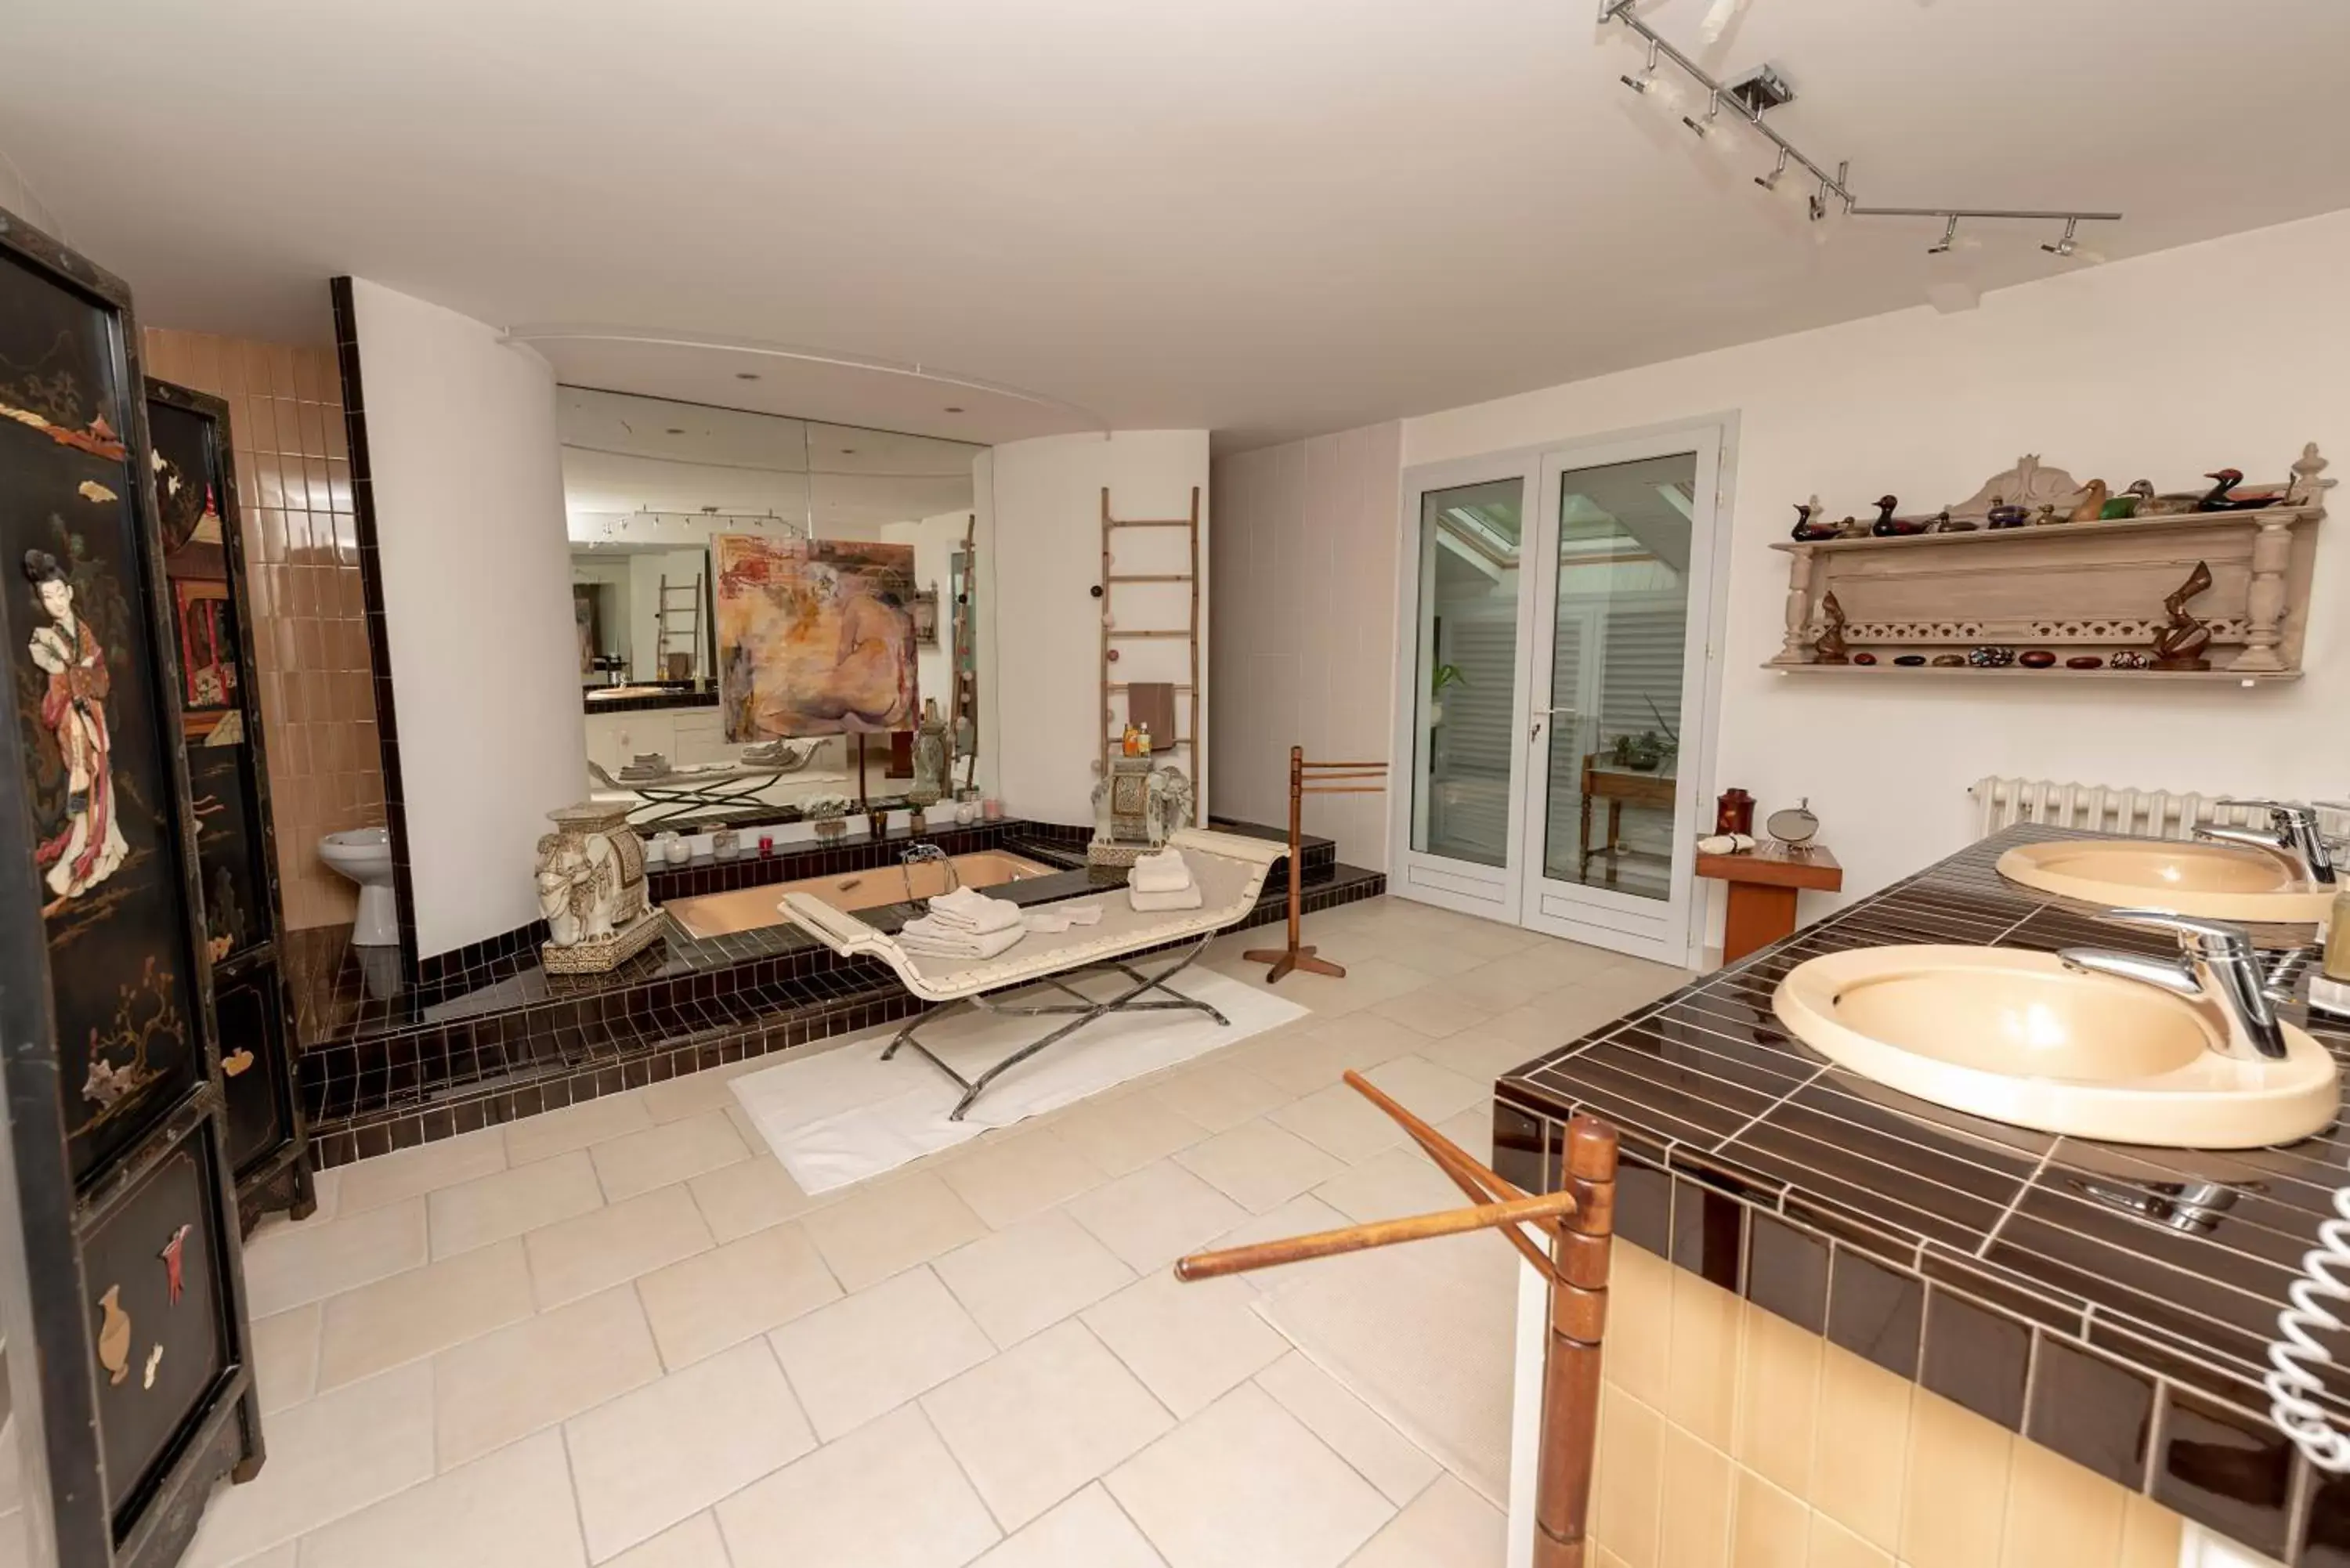
[[[66,764],[63,820],[33,851],[52,893],[42,914],[54,914],[68,898],[106,882],[122,865],[129,844],[115,820],[113,745],[106,736],[113,677],[106,649],[73,611],[73,583],[54,555],[26,550],[24,576],[49,616],[49,625],[33,630],[31,654],[49,677],[40,722],[56,736],[56,755]]]

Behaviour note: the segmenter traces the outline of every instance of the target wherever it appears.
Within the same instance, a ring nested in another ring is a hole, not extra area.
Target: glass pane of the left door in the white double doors
[[[1412,851],[1506,867],[1525,480],[1422,491]]]

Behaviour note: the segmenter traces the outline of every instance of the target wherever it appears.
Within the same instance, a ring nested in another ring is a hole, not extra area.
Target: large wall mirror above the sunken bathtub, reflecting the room
[[[649,832],[902,802],[933,710],[987,780],[985,447],[569,386],[559,418],[597,797]]]

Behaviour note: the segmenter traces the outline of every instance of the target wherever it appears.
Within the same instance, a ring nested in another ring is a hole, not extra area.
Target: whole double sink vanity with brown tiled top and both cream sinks
[[[2350,1481],[2296,1453],[2263,1389],[2277,1312],[2350,1182],[2350,1023],[2312,1013],[2298,985],[2319,957],[2331,867],[2305,811],[2270,823],[2197,842],[2012,827],[1506,1074],[1502,1173],[1556,1190],[1567,1117],[1605,1117],[1622,1131],[1617,1234],[1676,1265],[1659,1305],[1636,1300],[1659,1274],[1619,1260],[1612,1335],[1633,1342],[1610,1340],[1612,1387],[1650,1399],[1631,1385],[1645,1335],[1664,1331],[1626,1333],[1626,1319],[1666,1312],[1673,1366],[1654,1408],[1718,1441],[1706,1401],[1683,1389],[1697,1375],[1683,1335],[1720,1300],[1748,1324],[1718,1368],[1739,1387],[1723,1394],[1723,1432],[1739,1422],[1741,1441],[1772,1413],[1727,1415],[1732,1399],[1770,1387],[1812,1389],[1821,1455],[1831,1422],[1849,1420],[1826,1408],[1833,1378],[1758,1371],[1793,1342],[1786,1366],[1873,1363],[1990,1422],[1974,1429],[2002,1455],[1998,1429],[2089,1472],[2080,1507],[2113,1521],[2092,1535],[2120,1542],[2150,1500],[2287,1563],[2350,1563]],[[1704,1302],[1685,1300],[1692,1286]],[[1520,1389],[1528,1345],[1539,1340],[1520,1326]],[[2345,1392],[2329,1375],[2310,1408],[2350,1429]],[[1786,1410],[1805,1448],[1810,1410]],[[2026,1528],[1953,1502],[1967,1486],[1932,1474],[1946,1453],[1922,1406],[1880,1439],[1901,1493],[1880,1549],[1911,1561],[1920,1509],[1953,1509],[1936,1528],[1988,1530],[1990,1549]],[[1718,1446],[1859,1528],[1838,1512],[1849,1497],[1831,1509],[1800,1490],[1810,1453],[1788,1472],[1762,1443],[1760,1458]],[[2040,1502],[2016,1453],[2014,1497],[1998,1467],[1998,1507],[2028,1512]],[[1600,1544],[1624,1486],[1605,1465]],[[1849,1493],[1849,1474],[1835,1486]],[[2155,1561],[2122,1549],[2077,1561]]]

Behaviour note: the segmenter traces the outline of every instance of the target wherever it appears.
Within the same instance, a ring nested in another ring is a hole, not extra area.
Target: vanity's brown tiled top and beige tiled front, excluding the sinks
[[[1772,1016],[1788,969],[1849,947],[2171,950],[1990,870],[2049,837],[2080,835],[1986,839],[1499,1081],[1525,1187],[1558,1185],[1567,1114],[1624,1135],[1593,1533],[1631,1568],[1683,1561],[1716,1493],[1741,1568],[2167,1568],[2174,1514],[2350,1563],[2350,1481],[2301,1462],[2261,1392],[2350,1182],[2338,1124],[2223,1154],[2054,1138],[1828,1067]],[[1810,1556],[1751,1556],[1774,1516]]]

